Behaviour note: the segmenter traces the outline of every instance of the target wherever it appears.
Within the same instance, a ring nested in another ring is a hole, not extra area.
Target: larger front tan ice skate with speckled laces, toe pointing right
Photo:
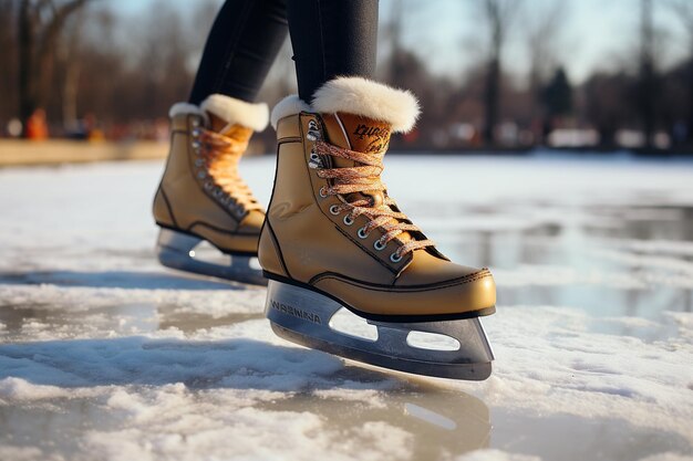
[[[273,109],[277,177],[259,245],[266,315],[308,347],[480,380],[494,358],[478,318],[495,312],[490,272],[441,254],[380,181],[390,134],[417,114],[410,93],[356,77],[328,82],[312,106],[290,96]],[[343,308],[370,333],[340,328]]]

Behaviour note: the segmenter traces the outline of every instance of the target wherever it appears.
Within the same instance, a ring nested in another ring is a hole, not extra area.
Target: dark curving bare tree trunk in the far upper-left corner
[[[90,0],[20,0],[18,30],[19,113],[27,121],[45,105],[60,33]]]

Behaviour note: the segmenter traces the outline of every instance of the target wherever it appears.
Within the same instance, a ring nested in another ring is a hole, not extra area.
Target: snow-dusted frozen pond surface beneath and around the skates
[[[273,158],[244,168],[267,201]],[[444,253],[496,275],[487,381],[298,347],[265,289],[164,270],[158,163],[4,169],[0,459],[692,459],[693,164],[386,168]]]

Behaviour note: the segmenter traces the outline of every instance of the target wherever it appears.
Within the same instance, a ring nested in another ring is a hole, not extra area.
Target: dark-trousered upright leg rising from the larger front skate
[[[335,76],[374,76],[377,0],[288,0],[287,13],[301,99]]]

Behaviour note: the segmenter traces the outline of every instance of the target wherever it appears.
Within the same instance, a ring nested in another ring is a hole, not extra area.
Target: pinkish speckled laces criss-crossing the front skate
[[[338,205],[335,212],[349,211],[349,218],[355,219],[363,214],[369,218],[369,222],[362,228],[362,232],[368,235],[373,229],[381,228],[385,231],[380,238],[381,245],[386,244],[403,232],[421,232],[418,227],[411,223],[410,219],[400,211],[394,211],[391,207],[395,201],[387,197],[385,185],[381,181],[380,175],[383,171],[383,158],[385,150],[380,153],[360,153],[345,149],[323,140],[316,140],[316,153],[332,157],[353,160],[362,166],[346,168],[320,168],[317,174],[322,179],[332,179],[332,185],[321,192],[327,196],[350,195],[354,192],[379,191],[383,201],[375,205],[375,200],[369,196],[354,196],[351,200]],[[401,222],[408,221],[408,222]],[[433,247],[431,240],[416,240],[411,235],[411,240],[404,242],[394,253],[397,260],[414,250]]]

